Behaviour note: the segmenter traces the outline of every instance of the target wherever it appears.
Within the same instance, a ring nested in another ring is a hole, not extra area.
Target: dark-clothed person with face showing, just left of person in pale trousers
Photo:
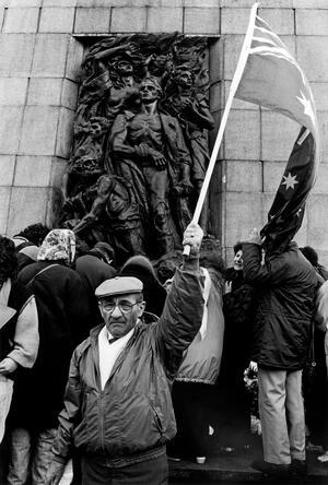
[[[218,379],[219,441],[221,450],[233,452],[250,445],[250,399],[244,382],[249,365],[255,291],[243,274],[242,244],[234,246],[234,265],[225,272],[223,314],[225,331]]]

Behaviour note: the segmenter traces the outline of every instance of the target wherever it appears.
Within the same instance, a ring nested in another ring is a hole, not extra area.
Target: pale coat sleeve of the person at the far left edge
[[[38,351],[38,319],[34,296],[31,296],[17,317],[13,338],[13,350],[8,354],[22,367],[31,368]]]

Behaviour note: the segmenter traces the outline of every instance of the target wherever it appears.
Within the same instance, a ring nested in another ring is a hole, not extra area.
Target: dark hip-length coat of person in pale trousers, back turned
[[[250,245],[243,245],[245,280],[258,292],[251,358],[267,367],[302,369],[307,358],[317,287],[315,270],[291,242],[283,253],[268,258],[256,272],[254,250]]]

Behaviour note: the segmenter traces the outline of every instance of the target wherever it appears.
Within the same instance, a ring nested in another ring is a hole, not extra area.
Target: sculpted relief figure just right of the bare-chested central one
[[[191,181],[197,200],[209,162],[207,130],[214,127],[203,93],[195,88],[195,73],[187,66],[179,66],[173,74],[174,93],[166,98],[165,106],[181,125],[187,147],[191,155]],[[206,230],[208,218],[208,201],[201,213],[200,226]]]

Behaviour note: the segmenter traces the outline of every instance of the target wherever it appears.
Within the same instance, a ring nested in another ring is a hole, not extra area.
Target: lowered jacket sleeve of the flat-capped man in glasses
[[[72,429],[81,417],[81,379],[79,372],[79,348],[71,358],[69,378],[63,397],[63,410],[58,416],[59,427],[52,445],[56,460],[66,461],[72,446]]]

